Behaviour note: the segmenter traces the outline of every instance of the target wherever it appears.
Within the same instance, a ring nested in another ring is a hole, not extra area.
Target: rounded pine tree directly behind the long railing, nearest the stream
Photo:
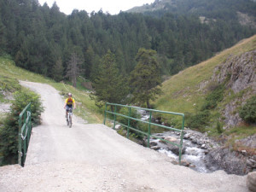
[[[139,49],[137,52],[137,66],[131,72],[130,85],[133,102],[139,105],[147,103],[161,93],[160,66],[156,60],[156,51],[152,49]]]

